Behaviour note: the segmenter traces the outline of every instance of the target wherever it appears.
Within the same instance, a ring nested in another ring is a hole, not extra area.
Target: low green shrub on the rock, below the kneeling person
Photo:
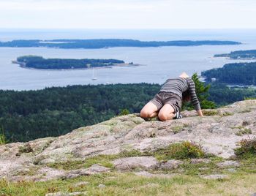
[[[157,157],[157,159],[165,160],[200,158],[206,157],[206,154],[201,146],[189,141],[184,141],[182,143],[173,143],[167,148],[159,149],[154,152],[154,156]]]

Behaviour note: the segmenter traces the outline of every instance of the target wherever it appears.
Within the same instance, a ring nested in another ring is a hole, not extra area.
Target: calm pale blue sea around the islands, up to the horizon
[[[37,90],[52,86],[114,83],[159,83],[167,78],[250,60],[214,58],[214,54],[256,49],[256,29],[0,29],[0,41],[14,39],[138,39],[230,40],[242,45],[203,45],[159,48],[0,48],[0,89]],[[18,56],[37,55],[60,59],[120,59],[138,67],[72,70],[24,69],[12,64]],[[96,80],[95,80],[96,79]]]

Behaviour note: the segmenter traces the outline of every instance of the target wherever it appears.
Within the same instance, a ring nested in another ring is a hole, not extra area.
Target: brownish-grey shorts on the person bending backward
[[[174,113],[181,110],[181,97],[174,93],[159,92],[149,102],[157,106],[157,111],[165,104],[170,104],[174,109]]]

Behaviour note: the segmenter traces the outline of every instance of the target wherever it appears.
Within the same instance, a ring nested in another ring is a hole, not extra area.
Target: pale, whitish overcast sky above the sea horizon
[[[255,0],[0,0],[0,29],[256,29]]]

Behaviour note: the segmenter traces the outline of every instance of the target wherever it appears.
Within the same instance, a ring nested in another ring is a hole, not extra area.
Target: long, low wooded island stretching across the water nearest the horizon
[[[113,47],[161,47],[161,46],[198,46],[198,45],[240,45],[241,42],[218,40],[175,40],[140,41],[135,39],[18,39],[0,42],[0,47],[47,47],[47,48],[113,48]]]

